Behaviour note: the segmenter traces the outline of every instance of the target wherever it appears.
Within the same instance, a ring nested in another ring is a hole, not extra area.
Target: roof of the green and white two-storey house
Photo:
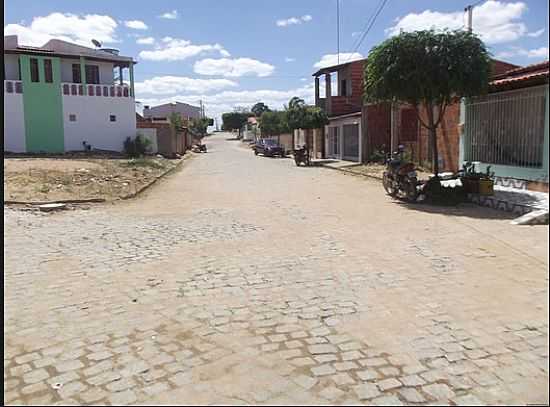
[[[108,49],[108,48],[107,48]],[[94,49],[82,45],[73,44],[63,40],[49,40],[41,47],[19,45],[17,36],[4,36],[4,53],[6,54],[35,54],[60,56],[65,58],[80,58],[81,56],[92,60],[118,62],[119,64],[137,63],[131,57],[108,52],[106,49]]]

